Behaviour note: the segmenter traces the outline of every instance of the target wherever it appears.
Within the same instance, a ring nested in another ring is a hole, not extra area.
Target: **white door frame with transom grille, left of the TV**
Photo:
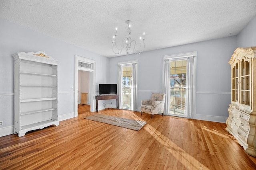
[[[95,81],[96,81],[96,73],[95,73],[95,68],[96,68],[96,61],[92,59],[87,59],[84,57],[80,57],[78,55],[75,55],[76,57],[76,68],[75,68],[75,100],[74,100],[74,117],[78,116],[78,70],[83,70],[83,71],[88,71],[90,72],[90,93],[89,93],[89,102],[90,102],[90,111],[94,112],[96,111],[95,108],[95,98],[94,96],[96,95],[96,90],[95,90]],[[92,68],[84,68],[84,67],[79,67],[78,62],[83,62],[83,63],[90,63],[92,64]]]

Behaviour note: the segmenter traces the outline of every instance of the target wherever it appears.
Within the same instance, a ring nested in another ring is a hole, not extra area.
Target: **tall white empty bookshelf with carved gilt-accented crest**
[[[42,51],[13,58],[14,134],[58,126],[58,61]]]

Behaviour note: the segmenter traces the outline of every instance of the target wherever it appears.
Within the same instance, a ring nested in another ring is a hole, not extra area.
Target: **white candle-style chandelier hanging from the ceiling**
[[[132,40],[131,38],[131,21],[130,20],[127,20],[125,21],[127,24],[128,24],[128,27],[127,27],[127,37],[125,39],[122,40],[121,42],[121,48],[118,48],[117,45],[116,45],[116,36],[117,35],[114,35],[113,36],[113,46],[112,46],[112,50],[115,54],[120,54],[122,52],[122,50],[124,49],[124,47],[126,48],[126,55],[129,54],[129,51],[131,49],[131,47],[133,48],[133,51],[135,54],[139,55],[141,52],[142,52],[142,49],[145,48],[145,44],[144,44],[144,40],[145,40],[145,32],[143,33],[143,39],[142,37],[140,37],[140,49],[137,50],[136,49],[136,41],[135,40]],[[117,33],[117,27],[116,27],[116,33]],[[118,51],[118,52],[115,52],[115,50]]]

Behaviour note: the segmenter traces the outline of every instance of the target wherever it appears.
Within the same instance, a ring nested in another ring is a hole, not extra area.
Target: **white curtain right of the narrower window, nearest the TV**
[[[131,110],[137,111],[137,63],[132,64],[132,101],[131,101]]]

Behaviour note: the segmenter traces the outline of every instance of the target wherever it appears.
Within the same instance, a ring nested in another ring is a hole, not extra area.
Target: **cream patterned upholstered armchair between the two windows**
[[[165,94],[153,93],[150,100],[141,100],[140,112],[153,115],[162,113],[164,116]]]

